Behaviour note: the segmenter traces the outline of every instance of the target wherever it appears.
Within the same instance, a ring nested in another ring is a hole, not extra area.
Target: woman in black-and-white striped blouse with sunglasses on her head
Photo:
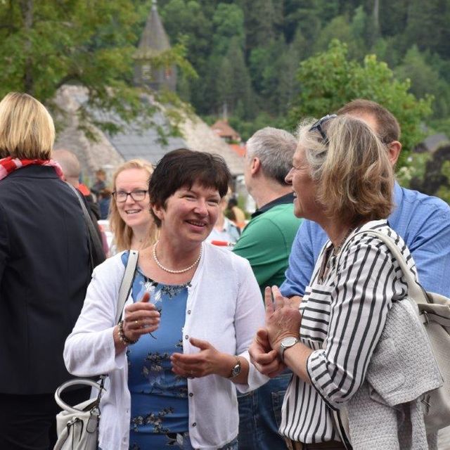
[[[279,428],[289,449],[350,449],[350,437],[358,450],[411,449],[401,440],[408,439],[411,430],[397,423],[390,395],[400,400],[399,411],[401,400],[407,405],[401,410],[406,413],[403,423],[412,423],[413,430],[421,430],[424,437],[423,417],[409,413],[409,401],[416,397],[409,397],[408,383],[397,383],[399,378],[408,379],[403,378],[407,370],[415,374],[418,365],[401,367],[398,373],[401,360],[391,348],[395,349],[396,339],[408,347],[410,340],[404,334],[380,340],[387,320],[396,317],[388,312],[401,314],[399,308],[408,307],[409,301],[400,301],[408,286],[387,245],[371,233],[389,236],[416,277],[409,249],[386,220],[393,207],[394,187],[387,149],[368,124],[349,115],[303,122],[298,136],[293,168],[286,176],[295,194],[294,213],[316,221],[329,240],[300,307],[283,297],[276,286],[266,288],[266,327],[250,346],[252,361],[271,376],[286,367],[293,371]],[[413,323],[421,327],[417,314],[411,316],[411,330]],[[420,344],[421,348],[427,345]],[[418,351],[410,345],[404,354],[416,361]],[[373,359],[375,354],[377,359]],[[420,356],[420,363],[424,360]],[[386,391],[369,387],[367,374],[370,380],[381,377],[378,387]],[[390,384],[394,379],[397,382]],[[411,384],[417,385],[421,384]],[[369,389],[376,391],[378,401],[369,396]],[[411,402],[411,411],[416,407],[420,410],[420,399],[418,404]],[[349,411],[350,436],[338,412],[341,409]],[[426,439],[420,448],[428,448]]]

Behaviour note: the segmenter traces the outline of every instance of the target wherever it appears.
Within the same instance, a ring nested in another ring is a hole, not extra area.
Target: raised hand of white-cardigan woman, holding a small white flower
[[[160,313],[148,300],[150,294],[145,293],[139,302],[125,308],[123,330],[129,340],[138,340],[141,335],[153,333],[160,326]]]

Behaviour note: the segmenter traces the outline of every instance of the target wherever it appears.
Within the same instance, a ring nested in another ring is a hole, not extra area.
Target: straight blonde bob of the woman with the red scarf
[[[55,126],[41,102],[28,94],[10,92],[0,102],[0,158],[48,160]]]

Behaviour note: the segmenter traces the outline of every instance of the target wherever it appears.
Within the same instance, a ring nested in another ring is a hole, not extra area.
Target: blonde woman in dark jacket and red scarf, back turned
[[[35,98],[0,102],[0,449],[53,448],[53,393],[71,378],[64,341],[90,281],[82,210],[50,159],[54,139]]]

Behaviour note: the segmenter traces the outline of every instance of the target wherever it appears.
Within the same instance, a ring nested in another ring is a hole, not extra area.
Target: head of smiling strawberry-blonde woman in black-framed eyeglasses
[[[114,233],[110,255],[123,250],[143,250],[155,243],[157,228],[150,214],[148,180],[153,166],[145,160],[129,160],[113,175],[110,227]]]

